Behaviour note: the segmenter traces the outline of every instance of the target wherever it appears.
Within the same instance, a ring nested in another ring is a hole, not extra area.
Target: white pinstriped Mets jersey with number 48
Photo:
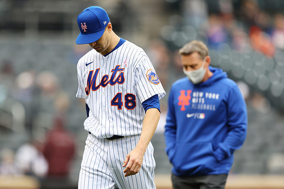
[[[80,58],[77,71],[76,96],[90,108],[84,128],[98,138],[141,134],[141,103],[166,94],[146,53],[129,41],[107,56],[92,49]]]

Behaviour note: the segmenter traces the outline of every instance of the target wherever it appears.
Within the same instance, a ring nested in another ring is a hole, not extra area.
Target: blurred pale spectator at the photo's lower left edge
[[[14,163],[14,152],[10,148],[4,148],[0,151],[0,175],[17,175],[19,169]]]

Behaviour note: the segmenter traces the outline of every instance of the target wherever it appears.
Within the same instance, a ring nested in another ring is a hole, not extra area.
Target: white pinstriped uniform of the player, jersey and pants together
[[[116,74],[115,69],[119,69]],[[151,69],[154,70],[153,65],[143,49],[129,41],[106,56],[93,49],[79,60],[76,96],[85,98],[90,108],[84,128],[92,135],[86,140],[78,188],[156,188],[151,142],[139,173],[124,177],[122,168],[126,155],[135,148],[142,131],[145,116],[142,102],[156,94],[159,99],[165,96],[161,83],[154,84],[147,78]],[[116,80],[119,76],[120,80]],[[127,103],[126,94],[132,96],[133,103]],[[120,96],[121,108],[115,102],[111,103],[115,96]],[[125,138],[105,140],[113,135]]]

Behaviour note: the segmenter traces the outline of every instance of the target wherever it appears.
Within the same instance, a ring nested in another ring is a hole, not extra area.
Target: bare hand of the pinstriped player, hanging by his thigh
[[[129,154],[127,154],[124,162],[123,167],[125,167],[123,173],[126,173],[124,176],[128,177],[130,175],[135,175],[139,172],[142,162],[143,162],[143,150],[139,148],[134,148]]]

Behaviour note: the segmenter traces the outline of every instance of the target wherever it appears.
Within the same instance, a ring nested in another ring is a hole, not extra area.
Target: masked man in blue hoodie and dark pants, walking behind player
[[[204,43],[191,41],[179,54],[187,77],[172,85],[165,125],[173,187],[224,188],[234,151],[245,141],[245,101],[226,72],[209,66]]]

